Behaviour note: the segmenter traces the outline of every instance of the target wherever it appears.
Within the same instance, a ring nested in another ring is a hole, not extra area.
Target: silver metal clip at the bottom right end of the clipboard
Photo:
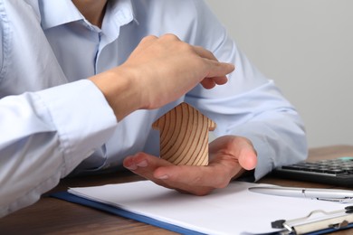
[[[272,221],[273,229],[284,229],[281,235],[290,234],[325,234],[337,230],[353,228],[353,206],[347,206],[338,211],[311,211],[307,216],[292,219]]]

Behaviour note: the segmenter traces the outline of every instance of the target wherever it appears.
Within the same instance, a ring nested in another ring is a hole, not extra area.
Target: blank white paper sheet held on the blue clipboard
[[[233,182],[206,196],[177,193],[149,181],[71,188],[70,193],[206,234],[267,233],[271,222],[348,204],[252,193],[259,183]]]

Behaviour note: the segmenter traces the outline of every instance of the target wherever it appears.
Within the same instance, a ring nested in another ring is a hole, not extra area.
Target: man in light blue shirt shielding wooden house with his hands
[[[0,13],[1,216],[68,174],[123,164],[205,195],[306,157],[296,110],[200,0],[1,0]],[[181,101],[217,124],[208,166],[156,157],[151,124]]]

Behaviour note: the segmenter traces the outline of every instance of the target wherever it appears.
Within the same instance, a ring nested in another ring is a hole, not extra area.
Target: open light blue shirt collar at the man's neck
[[[67,24],[74,21],[85,21],[83,15],[72,4],[72,0],[38,0],[40,5],[40,13],[42,18],[43,30]],[[135,20],[131,0],[109,0],[109,9],[111,15],[116,19],[119,25],[129,24]]]

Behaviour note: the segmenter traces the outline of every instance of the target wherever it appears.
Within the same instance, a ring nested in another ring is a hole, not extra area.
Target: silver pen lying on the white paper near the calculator
[[[301,197],[330,202],[353,202],[353,191],[340,189],[292,188],[292,187],[250,187],[253,193],[263,193],[276,196]]]

